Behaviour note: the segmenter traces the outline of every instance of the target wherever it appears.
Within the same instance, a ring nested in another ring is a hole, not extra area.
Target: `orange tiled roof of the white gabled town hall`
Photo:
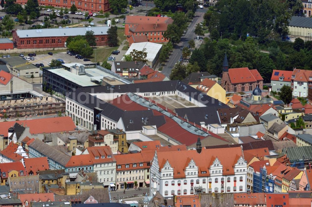
[[[164,164],[168,161],[173,168],[173,177],[185,177],[185,167],[191,159],[194,160],[198,166],[198,172],[206,171],[205,174],[198,174],[199,177],[210,176],[209,169],[213,161],[217,158],[223,166],[223,175],[233,175],[234,165],[237,160],[242,156],[241,147],[233,148],[216,148],[205,149],[203,148],[201,153],[197,153],[196,150],[184,150],[184,151],[172,151],[172,152],[157,152],[157,158],[159,168],[163,168]],[[224,152],[227,153],[224,153]],[[231,156],[228,156],[228,155]]]

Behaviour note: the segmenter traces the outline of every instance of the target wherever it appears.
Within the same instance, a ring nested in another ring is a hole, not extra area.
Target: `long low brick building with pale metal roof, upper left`
[[[94,32],[96,45],[107,45],[109,27],[77,27],[38,30],[13,30],[13,42],[18,49],[24,48],[57,48],[66,47],[69,36],[85,35],[89,30]]]

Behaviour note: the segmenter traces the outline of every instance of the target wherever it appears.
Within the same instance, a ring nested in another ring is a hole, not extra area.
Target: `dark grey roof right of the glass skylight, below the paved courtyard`
[[[200,122],[205,124],[220,124],[218,118],[218,108],[229,108],[224,106],[212,106],[212,107],[191,107],[191,108],[176,108],[173,112],[178,113],[178,116],[188,119],[189,122],[195,122],[200,125]],[[206,116],[207,115],[207,116]]]

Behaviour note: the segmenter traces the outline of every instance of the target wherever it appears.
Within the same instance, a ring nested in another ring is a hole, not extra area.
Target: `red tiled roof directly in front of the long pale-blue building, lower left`
[[[27,158],[24,159],[26,173],[33,173],[33,175],[37,175],[38,171],[48,170],[49,163],[47,157],[38,157],[38,158]]]

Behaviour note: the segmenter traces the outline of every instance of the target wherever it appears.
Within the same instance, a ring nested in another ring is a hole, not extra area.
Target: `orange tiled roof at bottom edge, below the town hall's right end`
[[[265,193],[234,193],[234,204],[266,205],[266,195]]]

